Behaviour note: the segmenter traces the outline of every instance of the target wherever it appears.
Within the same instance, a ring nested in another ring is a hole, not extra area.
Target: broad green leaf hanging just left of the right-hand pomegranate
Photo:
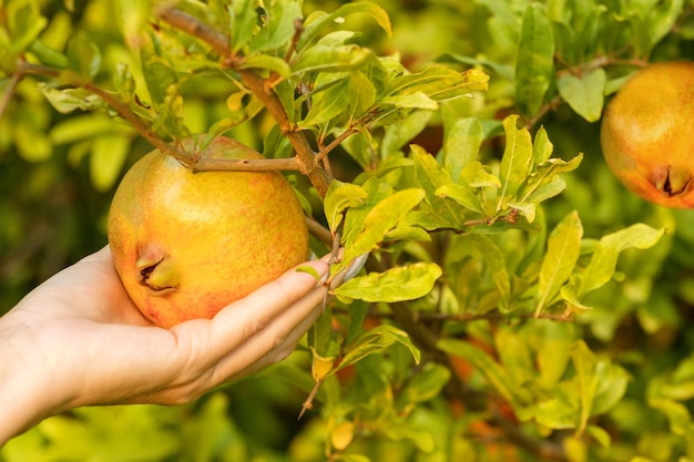
[[[576,114],[588,122],[595,122],[602,115],[606,81],[604,69],[599,68],[582,75],[562,75],[557,81],[557,89]]]

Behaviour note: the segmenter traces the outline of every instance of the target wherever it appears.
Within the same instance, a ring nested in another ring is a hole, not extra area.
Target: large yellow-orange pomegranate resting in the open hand
[[[228,137],[198,155],[262,158]],[[304,213],[280,173],[194,173],[157,150],[119,185],[109,243],[125,290],[165,328],[213,317],[308,256]]]

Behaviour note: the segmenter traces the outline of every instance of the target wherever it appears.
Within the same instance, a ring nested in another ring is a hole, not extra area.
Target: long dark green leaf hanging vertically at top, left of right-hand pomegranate
[[[540,111],[554,75],[554,35],[544,7],[525,9],[516,61],[516,102],[527,116]]]

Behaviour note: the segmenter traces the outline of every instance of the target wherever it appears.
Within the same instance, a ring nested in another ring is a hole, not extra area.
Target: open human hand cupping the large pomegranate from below
[[[324,277],[326,261],[302,266]],[[132,304],[104,247],[0,318],[0,445],[71,408],[185,403],[257,371],[294,349],[326,294],[292,269],[213,319],[163,329]]]

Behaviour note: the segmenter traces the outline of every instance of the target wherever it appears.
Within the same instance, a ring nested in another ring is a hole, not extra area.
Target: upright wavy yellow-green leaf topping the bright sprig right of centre
[[[532,168],[533,151],[530,132],[525,127],[518,127],[518,119],[517,114],[512,114],[503,120],[506,147],[499,168],[501,191],[497,211],[502,209],[503,201],[516,197],[516,193]]]

